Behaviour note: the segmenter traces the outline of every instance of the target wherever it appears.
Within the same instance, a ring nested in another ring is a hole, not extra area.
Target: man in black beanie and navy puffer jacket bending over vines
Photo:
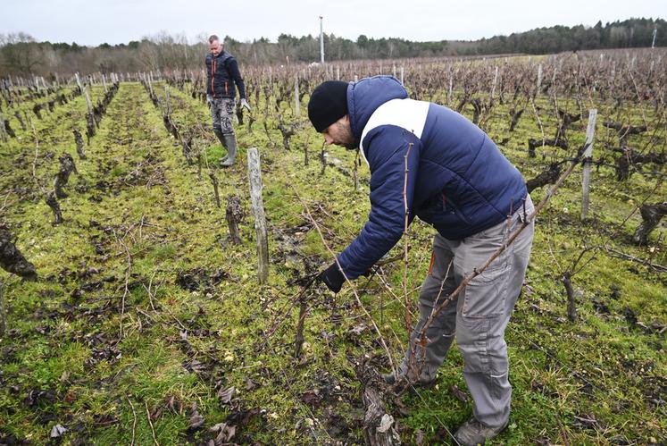
[[[463,279],[504,246],[527,221],[533,205],[521,173],[488,135],[461,114],[407,98],[391,76],[315,88],[308,117],[329,144],[361,149],[371,169],[371,213],[359,236],[319,279],[338,292],[343,282],[366,273],[404,233],[415,216],[437,233],[419,296],[420,320],[397,375],[430,387],[456,338],[471,391],[473,417],[455,433],[461,444],[484,443],[508,425],[512,387],[504,329],[528,266],[534,223],[488,268],[471,280],[456,305],[421,329]],[[406,201],[406,202],[405,202]]]

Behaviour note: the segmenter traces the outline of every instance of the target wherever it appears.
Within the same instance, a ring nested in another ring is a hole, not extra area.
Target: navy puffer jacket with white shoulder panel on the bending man
[[[461,240],[502,222],[527,196],[521,173],[461,114],[407,98],[391,76],[347,87],[356,142],[371,168],[371,214],[338,262],[349,279],[365,273],[419,216],[443,237]]]

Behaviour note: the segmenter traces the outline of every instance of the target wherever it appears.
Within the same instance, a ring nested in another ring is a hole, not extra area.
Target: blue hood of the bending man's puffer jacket
[[[385,102],[405,97],[407,91],[394,76],[373,76],[353,82],[347,87],[347,109],[357,147],[371,114]]]

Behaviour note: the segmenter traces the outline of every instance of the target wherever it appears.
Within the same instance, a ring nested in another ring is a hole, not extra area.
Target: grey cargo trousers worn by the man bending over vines
[[[455,337],[465,361],[463,378],[474,401],[474,416],[493,427],[504,425],[510,416],[512,386],[508,380],[504,329],[521,291],[535,223],[531,222],[521,231],[513,244],[468,283],[455,302],[445,307],[426,332],[425,348],[415,345],[414,340],[419,337],[431,311],[473,269],[483,265],[532,212],[533,204],[528,196],[525,206],[520,206],[505,222],[485,231],[463,240],[446,240],[436,235],[429,273],[421,285],[421,318],[413,329],[410,347],[400,368],[400,373],[419,376],[421,382],[435,379]]]

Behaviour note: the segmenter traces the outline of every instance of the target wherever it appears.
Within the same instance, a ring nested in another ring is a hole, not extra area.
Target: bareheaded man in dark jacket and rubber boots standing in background
[[[208,38],[211,52],[206,55],[206,100],[211,105],[213,133],[220,139],[227,155],[221,161],[221,167],[234,164],[237,157],[237,139],[231,120],[236,106],[236,88],[241,97],[241,106],[250,110],[246,100],[246,85],[243,83],[238,63],[233,55],[224,50],[218,36]]]

